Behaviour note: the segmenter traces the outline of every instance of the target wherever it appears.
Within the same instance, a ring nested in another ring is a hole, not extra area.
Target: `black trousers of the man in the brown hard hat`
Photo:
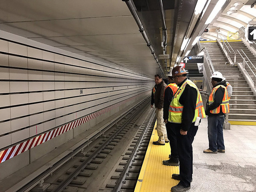
[[[180,160],[180,177],[181,180],[179,184],[184,187],[190,186],[190,181],[193,174],[193,149],[192,142],[198,130],[198,126],[194,126],[194,123],[191,124],[190,129],[186,135],[180,134],[181,124],[171,123],[172,127],[176,130],[177,138],[177,149],[178,156]]]

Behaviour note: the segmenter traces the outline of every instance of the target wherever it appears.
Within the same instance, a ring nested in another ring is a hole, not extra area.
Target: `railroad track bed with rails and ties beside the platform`
[[[102,186],[106,182],[109,182],[105,187],[106,190],[114,191],[125,188],[125,183],[130,183],[129,175],[132,175],[133,184],[131,185],[134,186],[138,172],[132,174],[132,167],[142,165],[150,139],[149,134],[152,132],[155,121],[154,110],[148,108],[149,102],[149,98],[144,100],[143,103],[130,110],[124,118],[113,122],[107,130],[96,135],[94,140],[88,141],[84,146],[71,152],[66,156],[66,162],[63,163],[63,160],[60,160],[59,164],[56,164],[58,169],[54,165],[52,170],[42,173],[45,176],[40,175],[35,178],[41,182],[31,191],[95,192],[105,190]],[[147,127],[151,127],[151,130],[146,130]],[[118,162],[120,156],[122,160]],[[116,162],[120,166],[117,171],[121,175],[118,175],[117,180],[114,179],[115,176],[111,176],[110,180],[106,179],[106,176],[116,166]],[[136,167],[136,170],[140,170],[140,167]],[[38,183],[35,180],[33,182]],[[113,185],[113,182],[116,184]],[[130,186],[130,184],[127,185]],[[27,184],[19,191],[29,191],[29,186],[32,184]]]

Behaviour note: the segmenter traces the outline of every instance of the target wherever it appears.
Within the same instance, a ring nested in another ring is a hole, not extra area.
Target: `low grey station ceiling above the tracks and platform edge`
[[[132,3],[158,57],[163,54],[163,26],[157,2],[134,0]],[[168,35],[166,54],[170,55],[166,65],[160,59],[158,65],[122,0],[1,0],[0,29],[116,68],[154,77],[156,73],[165,75],[177,57],[184,56],[188,50],[180,50],[184,38],[192,42],[198,36],[218,0],[209,0],[204,16],[201,14],[195,20],[197,2],[162,0]],[[221,11],[228,4],[226,2]],[[227,20],[225,15],[221,17],[211,25],[215,27],[216,23]],[[206,34],[205,37],[214,38],[214,35]]]

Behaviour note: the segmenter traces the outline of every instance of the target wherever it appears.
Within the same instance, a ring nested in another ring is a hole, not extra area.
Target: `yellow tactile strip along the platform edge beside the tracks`
[[[179,182],[172,179],[173,173],[179,173],[179,167],[162,164],[163,160],[168,160],[170,144],[167,143],[164,146],[152,144],[153,141],[158,140],[155,127],[156,124],[134,192],[170,192],[171,187]]]

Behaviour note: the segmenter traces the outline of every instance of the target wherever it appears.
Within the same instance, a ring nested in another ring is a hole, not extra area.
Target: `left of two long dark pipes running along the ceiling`
[[[122,1],[124,1],[124,2],[126,3],[126,5],[128,6],[128,9],[130,10],[130,12],[131,12],[131,14],[132,14],[132,16],[133,16],[135,22],[137,23],[137,25],[138,25],[138,27],[139,27],[140,33],[142,34],[144,40],[145,40],[146,43],[147,43],[148,48],[149,48],[150,51],[151,51],[151,54],[154,56],[154,59],[156,60],[156,63],[158,64],[159,68],[161,69],[162,74],[164,74],[164,72],[163,72],[163,70],[162,70],[162,67],[161,67],[161,65],[159,64],[159,61],[158,61],[158,59],[157,59],[157,57],[156,57],[156,54],[155,54],[155,52],[154,52],[154,49],[153,49],[153,47],[152,47],[152,45],[151,45],[151,43],[150,43],[150,41],[149,41],[149,39],[148,39],[148,36],[147,36],[147,34],[146,34],[145,30],[144,30],[144,27],[143,27],[143,25],[142,25],[142,22],[140,21],[140,18],[139,18],[139,16],[138,16],[138,14],[136,13],[135,9],[134,9],[134,5],[132,4],[132,2],[131,2],[130,0],[122,0]],[[166,41],[167,41],[167,40],[166,40]],[[164,75],[164,76],[165,76],[165,75]]]

